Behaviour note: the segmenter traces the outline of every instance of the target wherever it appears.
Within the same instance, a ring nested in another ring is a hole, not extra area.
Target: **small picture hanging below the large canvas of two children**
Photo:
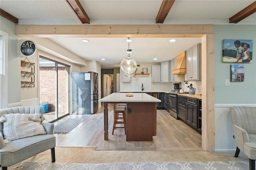
[[[231,82],[244,82],[244,64],[231,64]]]

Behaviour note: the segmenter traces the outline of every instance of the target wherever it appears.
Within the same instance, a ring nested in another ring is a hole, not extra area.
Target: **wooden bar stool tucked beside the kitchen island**
[[[126,134],[125,111],[126,111],[126,106],[118,106],[117,105],[116,108],[114,108],[114,123],[113,123],[112,135],[114,135],[114,130],[115,129],[120,129],[120,128],[124,128],[124,133]],[[124,126],[123,127],[116,126],[118,124],[123,124]]]

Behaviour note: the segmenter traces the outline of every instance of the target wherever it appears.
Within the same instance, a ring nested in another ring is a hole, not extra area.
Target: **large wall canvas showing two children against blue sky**
[[[252,63],[252,39],[224,39],[222,62]]]

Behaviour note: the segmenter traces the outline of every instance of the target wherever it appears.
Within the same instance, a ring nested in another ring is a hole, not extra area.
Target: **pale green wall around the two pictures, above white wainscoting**
[[[252,63],[222,63],[223,39],[252,39]],[[215,25],[215,104],[256,104],[256,25]],[[230,65],[244,64],[244,82],[230,82]]]

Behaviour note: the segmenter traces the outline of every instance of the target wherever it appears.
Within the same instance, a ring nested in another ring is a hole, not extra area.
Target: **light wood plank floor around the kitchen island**
[[[153,142],[126,142],[124,129],[116,129],[112,135],[113,104],[108,105],[109,140],[104,141],[103,107],[92,115],[69,115],[54,122],[61,123],[68,118],[85,120],[66,135],[56,136],[57,147],[94,146],[96,150],[162,150],[200,151],[201,135],[180,120],[176,120],[166,110],[157,110],[157,135]]]

